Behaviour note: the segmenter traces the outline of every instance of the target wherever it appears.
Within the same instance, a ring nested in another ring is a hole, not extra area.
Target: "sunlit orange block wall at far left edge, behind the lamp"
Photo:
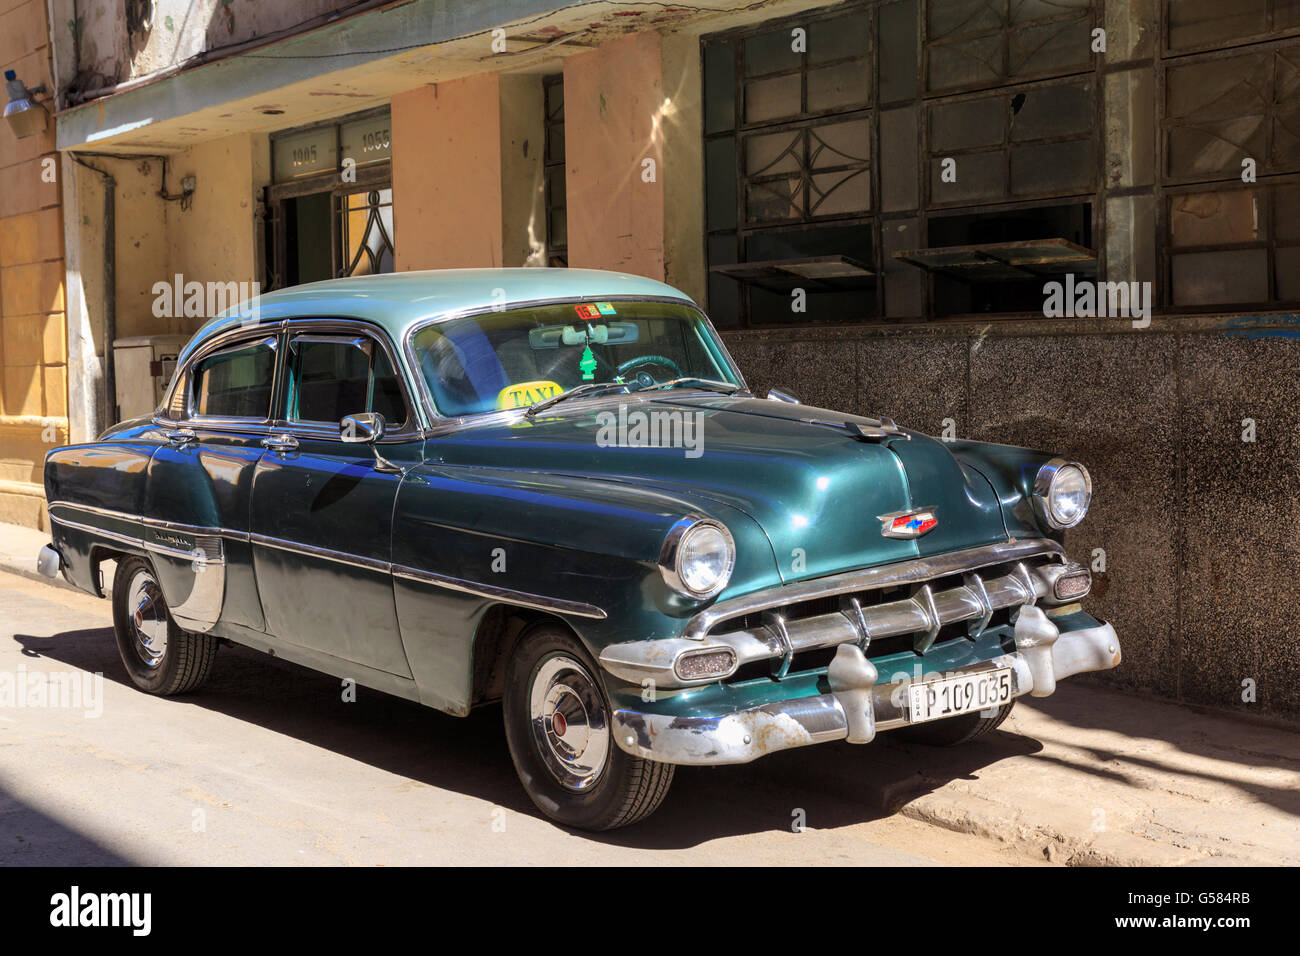
[[[52,85],[43,0],[0,0],[0,64]],[[44,100],[44,98],[42,98]],[[0,124],[0,522],[48,527],[44,454],[68,440],[64,250],[55,124]]]

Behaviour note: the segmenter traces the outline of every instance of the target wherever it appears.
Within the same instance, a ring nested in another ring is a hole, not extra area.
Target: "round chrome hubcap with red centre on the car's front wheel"
[[[563,654],[538,665],[529,693],[533,743],[560,786],[586,790],[610,754],[604,698],[586,669]]]

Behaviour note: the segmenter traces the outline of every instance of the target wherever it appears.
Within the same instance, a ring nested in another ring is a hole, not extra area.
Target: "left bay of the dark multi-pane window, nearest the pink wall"
[[[872,16],[703,42],[710,310],[723,326],[878,312]]]

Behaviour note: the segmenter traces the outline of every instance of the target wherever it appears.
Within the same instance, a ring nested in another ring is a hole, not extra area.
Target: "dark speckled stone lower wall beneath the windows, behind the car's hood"
[[[1037,447],[1092,472],[1072,558],[1105,551],[1088,609],[1123,665],[1093,678],[1300,717],[1300,316],[738,332],[751,388]],[[1243,419],[1256,441],[1243,441]],[[1243,700],[1253,682],[1256,702]],[[1140,730],[1140,728],[1135,728]]]

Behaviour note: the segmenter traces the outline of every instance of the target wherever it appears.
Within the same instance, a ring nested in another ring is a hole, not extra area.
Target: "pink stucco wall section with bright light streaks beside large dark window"
[[[564,60],[569,265],[664,277],[663,98],[656,33]]]

